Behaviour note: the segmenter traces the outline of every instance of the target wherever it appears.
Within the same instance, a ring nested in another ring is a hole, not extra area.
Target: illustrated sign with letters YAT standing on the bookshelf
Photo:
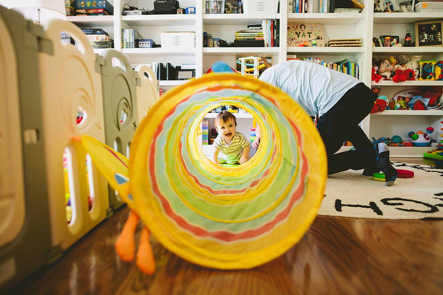
[[[321,23],[288,23],[288,47],[324,47]]]

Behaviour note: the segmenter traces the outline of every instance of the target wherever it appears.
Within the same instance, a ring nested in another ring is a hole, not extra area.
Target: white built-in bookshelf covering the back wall
[[[203,14],[203,0],[180,0],[180,7],[195,7],[194,15],[142,15],[121,16],[124,4],[152,10],[153,1],[145,0],[110,0],[114,6],[114,16],[70,16],[68,21],[79,27],[103,28],[114,39],[115,49],[123,52],[130,63],[171,62],[173,65],[181,63],[196,64],[196,78],[202,76],[216,61],[224,61],[235,67],[235,55],[256,54],[273,57],[273,64],[286,60],[287,54],[296,54],[299,58],[319,57],[326,62],[334,62],[348,58],[351,62],[363,62],[363,82],[368,85],[381,86],[381,94],[391,95],[406,89],[418,89],[422,86],[443,85],[443,81],[371,81],[372,58],[387,58],[390,55],[405,54],[422,55],[422,60],[442,60],[443,47],[372,47],[372,35],[399,35],[400,42],[404,40],[406,30],[411,30],[412,39],[415,39],[414,23],[433,19],[443,19],[442,13],[408,12],[408,13],[374,13],[373,1],[359,0],[365,5],[361,13],[287,13],[288,0],[280,0],[279,13],[248,13],[248,14]],[[280,19],[280,47],[205,47],[203,48],[203,32],[212,34],[213,38],[221,38],[233,42],[234,32],[245,28],[248,24],[261,23],[263,19]],[[287,47],[287,23],[311,22],[321,23],[323,39],[363,38],[362,47]],[[134,28],[144,36],[144,39],[153,39],[160,43],[159,33],[167,31],[194,31],[196,33],[195,48],[132,48],[121,49],[120,30]],[[94,50],[101,53],[103,50]],[[160,81],[165,90],[175,85],[182,85],[182,81]],[[365,133],[371,137],[393,136],[400,134],[404,137],[409,131],[419,131],[432,126],[436,130],[433,137],[439,137],[440,121],[443,120],[443,111],[385,111],[369,115],[363,122]],[[242,114],[237,114],[242,115]],[[250,116],[250,114],[248,114]],[[211,116],[206,118],[212,120]],[[242,120],[252,118],[238,117]],[[248,128],[249,129],[249,128]],[[391,134],[392,133],[392,134]],[[245,134],[249,134],[248,132]],[[348,147],[344,147],[348,148]],[[398,152],[396,150],[399,150]],[[423,148],[422,148],[423,149]],[[422,156],[420,148],[398,147],[392,155]]]

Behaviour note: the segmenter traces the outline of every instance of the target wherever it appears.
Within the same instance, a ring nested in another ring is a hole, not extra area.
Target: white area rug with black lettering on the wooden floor
[[[443,169],[391,162],[414,172],[392,186],[360,171],[329,175],[319,215],[379,219],[443,218]]]

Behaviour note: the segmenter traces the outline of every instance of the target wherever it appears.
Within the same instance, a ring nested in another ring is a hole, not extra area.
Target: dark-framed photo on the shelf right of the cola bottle
[[[443,19],[416,22],[416,47],[443,46],[442,27]]]

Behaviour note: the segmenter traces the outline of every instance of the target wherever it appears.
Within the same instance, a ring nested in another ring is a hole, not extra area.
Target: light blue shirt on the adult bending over
[[[271,66],[259,80],[288,93],[310,116],[323,115],[346,91],[361,83],[348,74],[297,59]]]

